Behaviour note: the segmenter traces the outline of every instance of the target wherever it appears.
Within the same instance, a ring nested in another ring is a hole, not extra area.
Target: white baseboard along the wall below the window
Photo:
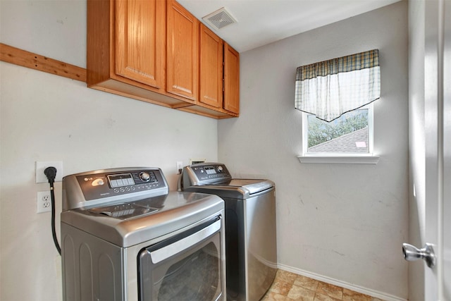
[[[385,301],[407,301],[407,299],[403,299],[402,297],[397,297],[395,295],[390,295],[387,293],[379,292],[377,290],[371,290],[369,288],[364,288],[359,285],[353,285],[350,283],[347,283],[345,281],[340,281],[334,278],[330,278],[327,276],[322,276],[319,274],[314,274],[309,271],[304,271],[302,269],[296,269],[292,266],[286,266],[285,264],[278,264],[278,269],[289,271],[298,275],[306,276],[321,282],[329,283],[332,285],[340,286],[341,288],[347,288],[348,290],[354,290],[354,292],[362,293],[365,295],[369,295],[371,297],[376,297]]]

